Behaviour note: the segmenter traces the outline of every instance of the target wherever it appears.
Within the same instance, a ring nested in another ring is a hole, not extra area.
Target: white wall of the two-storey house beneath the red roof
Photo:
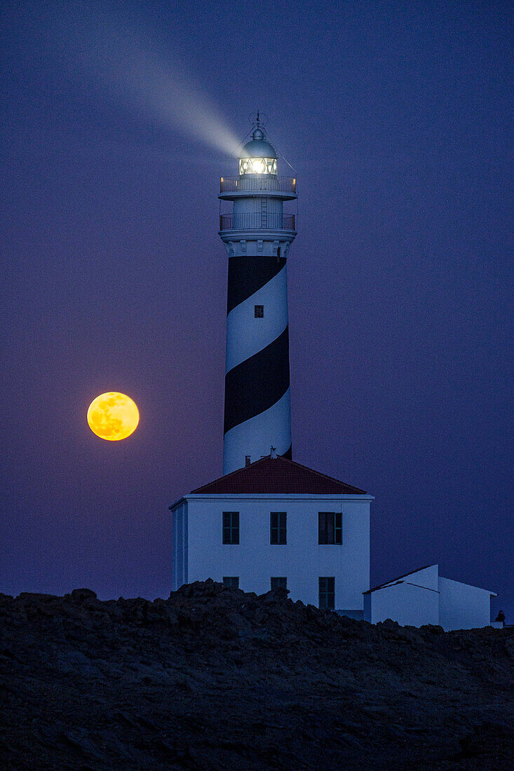
[[[370,500],[364,495],[190,495],[188,567],[184,573],[177,564],[177,581],[238,576],[240,588],[262,594],[272,576],[286,576],[290,598],[317,606],[318,578],[333,576],[336,609],[362,610],[369,587]],[[239,512],[238,545],[222,543],[223,511]],[[269,543],[272,511],[287,512],[286,545]],[[342,513],[342,545],[318,544],[319,511]]]

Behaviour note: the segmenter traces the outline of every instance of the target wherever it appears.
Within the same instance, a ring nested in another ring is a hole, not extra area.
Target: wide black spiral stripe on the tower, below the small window
[[[286,327],[276,340],[225,375],[225,433],[272,407],[288,388],[289,328]]]

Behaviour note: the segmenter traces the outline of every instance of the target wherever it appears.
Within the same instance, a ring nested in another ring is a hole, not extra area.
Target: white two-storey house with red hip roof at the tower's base
[[[364,490],[272,453],[170,508],[173,589],[210,577],[363,618],[370,581]]]

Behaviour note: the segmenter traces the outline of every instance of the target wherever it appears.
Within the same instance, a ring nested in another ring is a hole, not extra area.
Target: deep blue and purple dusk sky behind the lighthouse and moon
[[[4,0],[0,591],[169,594],[167,507],[221,475],[218,184],[259,108],[299,188],[293,459],[375,496],[372,585],[438,562],[514,622],[511,13]],[[86,424],[109,390],[122,442]]]

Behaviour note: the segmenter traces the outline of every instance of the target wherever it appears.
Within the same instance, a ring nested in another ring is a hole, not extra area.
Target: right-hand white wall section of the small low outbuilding
[[[491,592],[449,578],[439,578],[439,623],[445,631],[474,629],[491,623]]]

